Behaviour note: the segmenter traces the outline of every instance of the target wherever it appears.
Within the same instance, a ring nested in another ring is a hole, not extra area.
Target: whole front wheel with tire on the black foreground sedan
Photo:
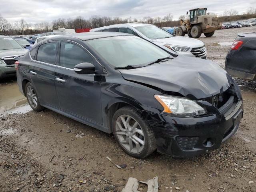
[[[156,150],[156,141],[148,122],[131,106],[117,110],[112,119],[115,139],[128,155],[145,158]]]

